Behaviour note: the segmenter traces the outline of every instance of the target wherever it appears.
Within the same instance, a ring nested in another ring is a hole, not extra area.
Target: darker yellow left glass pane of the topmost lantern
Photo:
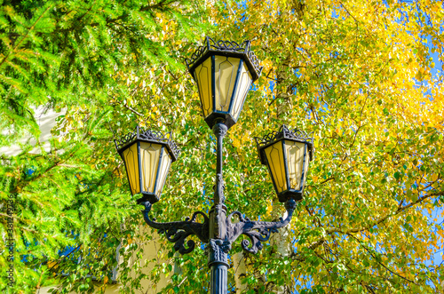
[[[211,58],[203,61],[195,68],[194,79],[197,81],[199,96],[203,110],[203,117],[207,117],[212,112],[213,99],[211,94]]]

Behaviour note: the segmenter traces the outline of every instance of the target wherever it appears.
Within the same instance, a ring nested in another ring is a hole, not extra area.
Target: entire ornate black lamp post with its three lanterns
[[[313,157],[313,139],[303,131],[289,130],[285,125],[264,138],[256,138],[259,158],[265,164],[273,179],[279,201],[288,212],[285,219],[276,222],[252,221],[243,218],[239,211],[226,215],[224,196],[223,139],[226,131],[237,122],[250,85],[258,79],[262,68],[258,58],[250,51],[250,41],[237,44],[228,41],[214,42],[209,37],[206,44],[194,52],[186,66],[198,85],[202,114],[205,122],[215,134],[217,145],[216,186],[213,206],[207,216],[202,211],[194,212],[191,219],[159,223],[149,218],[153,203],[160,199],[163,183],[170,163],[179,154],[170,134],[164,136],[158,131],[136,131],[123,139],[115,140],[115,147],[123,159],[130,182],[131,194],[141,194],[138,203],[145,206],[143,217],[148,226],[165,233],[174,249],[185,254],[194,250],[194,241],[186,237],[195,234],[202,242],[208,243],[211,280],[211,294],[227,292],[227,253],[232,243],[241,235],[242,248],[251,253],[262,249],[271,233],[287,226],[302,199],[308,164]],[[203,222],[195,221],[202,216]],[[232,217],[239,221],[232,223]]]

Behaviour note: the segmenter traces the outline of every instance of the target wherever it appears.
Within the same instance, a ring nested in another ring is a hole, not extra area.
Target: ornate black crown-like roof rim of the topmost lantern
[[[242,58],[246,62],[250,70],[253,82],[256,81],[262,72],[259,66],[258,57],[250,49],[250,41],[244,41],[242,44],[237,44],[234,41],[218,41],[215,42],[209,36],[205,38],[205,43],[199,46],[191,56],[191,59],[185,59],[188,71],[193,75],[194,69],[197,68],[204,60],[207,60],[211,55],[222,55],[230,57]]]

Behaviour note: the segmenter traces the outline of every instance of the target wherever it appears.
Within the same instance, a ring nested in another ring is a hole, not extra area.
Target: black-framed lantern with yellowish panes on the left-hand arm
[[[143,131],[138,126],[123,139],[115,140],[115,148],[125,164],[131,195],[142,195],[138,203],[158,202],[170,164],[180,152],[170,133],[163,136],[160,131]]]

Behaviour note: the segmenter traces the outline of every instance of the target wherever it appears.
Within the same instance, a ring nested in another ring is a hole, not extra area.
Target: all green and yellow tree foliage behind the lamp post
[[[253,137],[285,123],[313,131],[316,148],[289,249],[272,242],[244,255],[245,272],[235,280],[230,269],[230,288],[442,290],[433,257],[444,231],[425,211],[441,213],[444,199],[443,81],[432,75],[424,38],[442,58],[443,17],[442,3],[430,0],[4,2],[2,146],[24,131],[38,137],[31,107],[67,109],[50,152],[2,157],[2,201],[16,195],[16,257],[27,256],[15,262],[17,289],[92,291],[95,276],[103,290],[118,244],[123,265],[141,257],[135,240],[151,237],[139,231],[140,208],[112,143],[138,123],[173,131],[183,149],[155,217],[210,209],[215,141],[183,66],[206,33],[252,40],[265,67],[226,138],[228,211],[272,219],[281,210]],[[5,226],[2,219],[2,234]],[[161,240],[158,258],[172,258]],[[75,250],[59,256],[67,245]],[[209,289],[203,250],[175,261],[182,272],[164,292]],[[152,264],[149,274],[141,263],[120,266],[121,289],[155,283],[172,268]]]

